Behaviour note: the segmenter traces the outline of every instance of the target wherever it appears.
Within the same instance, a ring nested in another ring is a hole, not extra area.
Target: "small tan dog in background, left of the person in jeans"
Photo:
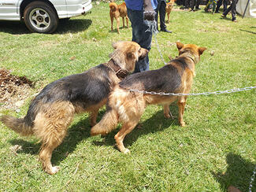
[[[123,28],[124,26],[124,17],[126,19],[126,25],[128,28],[128,23],[129,23],[129,19],[127,16],[127,8],[126,8],[126,4],[125,2],[121,3],[120,5],[117,6],[117,4],[115,2],[110,2],[109,3],[109,15],[110,15],[110,20],[111,20],[111,31],[113,31],[113,18],[115,18],[117,20],[117,32],[120,34],[119,31],[119,24],[120,24],[120,20],[119,17],[122,17],[123,19]]]

